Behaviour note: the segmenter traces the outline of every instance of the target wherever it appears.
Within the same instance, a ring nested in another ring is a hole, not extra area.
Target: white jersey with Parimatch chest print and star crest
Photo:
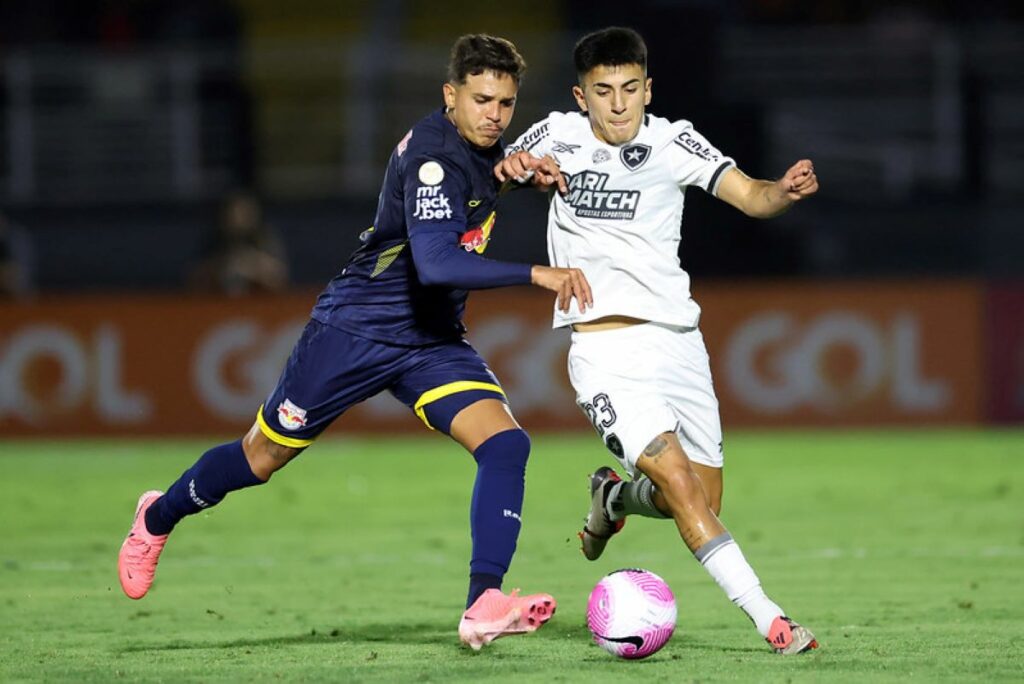
[[[735,163],[688,121],[647,115],[640,132],[621,145],[601,142],[583,113],[552,112],[515,141],[555,158],[568,195],[555,193],[548,212],[551,265],[583,270],[594,307],[555,308],[554,327],[627,315],[696,327],[700,307],[679,263],[683,194],[687,185],[716,194]]]

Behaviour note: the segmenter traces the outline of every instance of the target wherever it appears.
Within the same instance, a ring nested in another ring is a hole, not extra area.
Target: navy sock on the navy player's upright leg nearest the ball
[[[484,590],[501,588],[512,563],[519,528],[522,526],[522,496],[529,458],[529,437],[522,430],[506,430],[492,436],[473,452],[476,482],[470,505],[473,557],[467,607]]]

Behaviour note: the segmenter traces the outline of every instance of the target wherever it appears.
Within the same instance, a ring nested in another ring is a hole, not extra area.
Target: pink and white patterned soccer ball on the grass
[[[615,570],[590,593],[587,627],[597,645],[612,655],[647,657],[660,650],[676,630],[676,597],[653,572]]]

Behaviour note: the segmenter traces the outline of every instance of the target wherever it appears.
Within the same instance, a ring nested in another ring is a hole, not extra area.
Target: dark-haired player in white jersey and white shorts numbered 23
[[[523,179],[545,158],[560,166],[564,179],[557,179],[548,214],[551,264],[581,268],[594,304],[555,310],[554,325],[572,329],[568,368],[580,407],[637,478],[623,481],[608,467],[591,475],[583,552],[598,558],[629,514],[673,518],[689,550],[776,652],[816,648],[811,632],[768,598],[718,518],[718,399],[697,327],[700,308],[678,257],[687,186],[770,218],[817,191],[813,166],[803,160],[779,180],[752,179],[690,122],[646,114],[647,48],[635,31],[590,34],[573,57],[581,112],[552,113],[530,127],[495,173]],[[536,184],[555,182],[541,175]]]

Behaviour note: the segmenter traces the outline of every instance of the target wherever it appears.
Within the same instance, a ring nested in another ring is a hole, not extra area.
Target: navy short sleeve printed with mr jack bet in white
[[[402,189],[409,234],[465,226],[466,185],[465,173],[445,157],[421,154],[408,160]]]

